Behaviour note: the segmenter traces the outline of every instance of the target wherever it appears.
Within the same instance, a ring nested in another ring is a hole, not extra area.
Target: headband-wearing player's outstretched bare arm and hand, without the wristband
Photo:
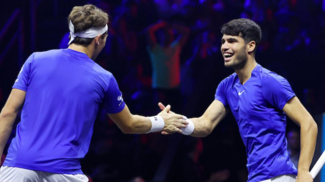
[[[165,121],[165,127],[163,131],[174,133],[182,133],[180,128],[186,127],[187,122],[183,120],[183,116],[179,114],[168,114],[170,106],[167,106],[158,115]],[[109,117],[116,123],[116,125],[125,134],[144,134],[150,131],[151,121],[149,118],[139,115],[133,115],[130,113],[129,108],[125,105],[125,108],[117,114],[108,114]]]

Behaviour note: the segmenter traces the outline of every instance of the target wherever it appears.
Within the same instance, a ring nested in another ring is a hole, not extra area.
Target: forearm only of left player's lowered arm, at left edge
[[[17,113],[0,113],[0,155],[3,154],[8,138],[12,132]]]

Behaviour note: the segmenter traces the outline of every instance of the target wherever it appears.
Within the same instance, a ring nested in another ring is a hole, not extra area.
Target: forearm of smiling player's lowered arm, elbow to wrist
[[[299,172],[309,172],[312,157],[315,151],[317,138],[317,125],[311,118],[310,122],[305,122],[300,126],[300,157],[298,163]]]

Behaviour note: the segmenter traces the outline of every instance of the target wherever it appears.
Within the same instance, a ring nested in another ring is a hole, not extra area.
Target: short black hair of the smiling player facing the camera
[[[256,42],[254,52],[256,52],[257,45],[261,42],[262,30],[254,21],[246,18],[233,19],[221,28],[221,33],[240,36],[248,43],[252,40]]]

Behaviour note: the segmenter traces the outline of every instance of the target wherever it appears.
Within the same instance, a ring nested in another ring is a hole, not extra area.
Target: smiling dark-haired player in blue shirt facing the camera
[[[201,117],[187,120],[183,134],[205,137],[231,110],[246,146],[248,182],[312,182],[309,168],[317,125],[288,81],[256,62],[260,27],[249,19],[234,19],[223,25],[221,33],[224,65],[235,73],[221,81],[215,100]],[[301,128],[298,169],[287,151],[285,115]]]

